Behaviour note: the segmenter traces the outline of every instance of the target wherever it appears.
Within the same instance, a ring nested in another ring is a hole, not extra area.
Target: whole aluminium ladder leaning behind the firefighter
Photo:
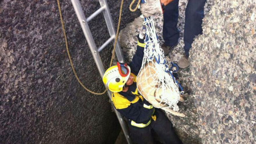
[[[97,65],[97,68],[99,70],[100,76],[103,77],[105,70],[104,70],[104,66],[103,66],[103,63],[101,61],[101,58],[99,56],[99,52],[102,49],[104,49],[104,47],[106,47],[110,42],[113,42],[113,45],[114,45],[114,40],[115,40],[115,35],[116,35],[115,28],[114,28],[114,25],[113,25],[113,21],[112,21],[112,18],[111,18],[111,14],[110,14],[110,11],[109,11],[109,6],[108,6],[106,0],[99,0],[101,8],[96,10],[92,15],[90,15],[86,19],[79,0],[71,0],[71,2],[72,2],[72,5],[74,7],[74,10],[76,12],[79,23],[82,27],[83,34],[84,34],[84,36],[86,38],[86,41],[87,41],[87,43],[90,47],[90,50],[93,54],[93,58],[94,58],[94,61]],[[104,44],[102,46],[100,46],[97,49],[95,41],[93,40],[92,33],[90,31],[88,22],[100,13],[103,13],[103,15],[104,15],[104,19],[106,21],[106,24],[107,24],[107,27],[108,27],[108,30],[109,30],[110,38],[106,42],[104,42]],[[118,41],[116,43],[115,53],[117,55],[118,61],[123,63],[124,62],[124,57],[123,57],[123,54],[122,54],[122,51],[121,51],[121,48],[120,48],[120,45],[119,45]],[[108,92],[109,98],[111,99],[111,92],[109,90],[107,92]],[[112,104],[112,106],[113,106],[113,104]],[[120,113],[116,109],[114,109],[114,111],[115,111],[115,114],[118,118],[118,121],[119,121],[119,123],[122,127],[122,130],[125,134],[125,138],[127,140],[127,143],[132,144],[131,138],[129,137],[129,134],[128,134],[127,126],[125,125],[125,122],[124,122],[122,116],[120,115]]]

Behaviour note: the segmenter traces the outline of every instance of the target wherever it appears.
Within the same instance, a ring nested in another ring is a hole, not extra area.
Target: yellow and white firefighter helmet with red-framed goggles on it
[[[103,75],[103,82],[111,92],[120,92],[129,79],[131,69],[126,63],[109,67]]]

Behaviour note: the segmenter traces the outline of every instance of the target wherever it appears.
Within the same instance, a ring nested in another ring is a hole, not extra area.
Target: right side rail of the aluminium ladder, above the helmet
[[[104,19],[106,21],[107,27],[109,29],[109,35],[116,35],[116,30],[113,24],[113,20],[111,17],[111,13],[109,11],[109,6],[106,0],[99,0],[100,6],[104,6],[105,10],[103,11]],[[115,41],[113,41],[114,45]],[[122,54],[122,49],[120,47],[119,41],[117,40],[116,46],[115,46],[115,54],[117,56],[117,59],[120,63],[124,63],[124,56]]]

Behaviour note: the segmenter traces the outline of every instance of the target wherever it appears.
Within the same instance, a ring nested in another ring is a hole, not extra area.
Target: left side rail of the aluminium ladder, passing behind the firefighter
[[[99,70],[100,76],[103,77],[104,72],[105,72],[104,66],[103,66],[103,63],[102,63],[101,58],[99,56],[99,53],[97,51],[97,47],[96,47],[95,41],[93,40],[93,36],[91,34],[91,31],[90,31],[90,28],[88,26],[88,23],[86,22],[86,18],[84,16],[82,7],[80,5],[80,2],[79,2],[79,0],[71,0],[71,2],[72,2],[72,5],[74,7],[74,10],[76,12],[76,15],[77,15],[77,18],[79,20],[79,23],[80,23],[80,25],[82,27],[84,36],[86,37],[86,41],[87,41],[87,43],[88,43],[88,45],[90,47],[90,50],[92,52],[92,55],[93,55],[93,58],[94,58],[94,61],[95,61],[96,65],[97,65],[97,68]],[[111,92],[109,90],[108,90],[108,96],[111,99],[112,94],[111,94]],[[112,104],[112,106],[113,106],[113,104]],[[120,115],[120,113],[116,109],[114,111],[115,111],[115,114],[116,114],[116,116],[118,118],[118,121],[119,121],[119,123],[120,123],[120,125],[122,127],[122,130],[123,130],[123,132],[125,134],[125,138],[127,140],[127,143],[128,144],[132,144],[131,139],[129,137],[128,128],[125,125],[125,122],[123,121],[122,116]]]

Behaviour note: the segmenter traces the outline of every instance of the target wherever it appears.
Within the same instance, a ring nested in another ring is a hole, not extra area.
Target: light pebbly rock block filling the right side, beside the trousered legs
[[[191,50],[202,143],[256,143],[256,1],[215,1]]]

